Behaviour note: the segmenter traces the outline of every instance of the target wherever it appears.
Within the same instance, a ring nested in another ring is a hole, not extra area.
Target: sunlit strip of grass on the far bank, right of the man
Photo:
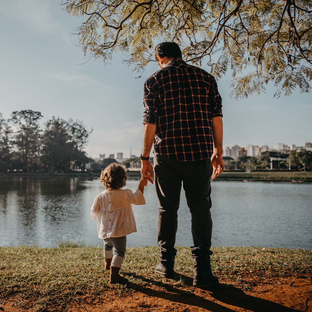
[[[285,181],[312,182],[311,171],[224,171],[218,180],[256,180],[256,181]]]

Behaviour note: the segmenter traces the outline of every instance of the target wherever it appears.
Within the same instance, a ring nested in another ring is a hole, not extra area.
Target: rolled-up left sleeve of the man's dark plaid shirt
[[[158,100],[156,92],[153,87],[153,81],[151,77],[145,81],[144,84],[144,118],[143,124],[157,124],[158,119]]]

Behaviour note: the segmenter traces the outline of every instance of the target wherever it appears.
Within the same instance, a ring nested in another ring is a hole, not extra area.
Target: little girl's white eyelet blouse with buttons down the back
[[[103,191],[95,197],[91,217],[97,220],[100,238],[125,236],[136,232],[132,205],[144,205],[143,193],[137,189]]]

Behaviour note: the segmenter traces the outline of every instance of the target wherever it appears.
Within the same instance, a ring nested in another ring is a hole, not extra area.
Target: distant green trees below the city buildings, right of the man
[[[291,170],[310,171],[312,165],[312,152],[301,149],[299,152],[291,151],[290,153],[283,152],[262,152],[256,158],[253,156],[239,156],[235,160],[231,157],[224,157],[224,166],[227,170],[242,169],[242,170],[269,170],[271,168],[271,157],[287,158],[287,161],[273,161],[274,170],[289,169]]]

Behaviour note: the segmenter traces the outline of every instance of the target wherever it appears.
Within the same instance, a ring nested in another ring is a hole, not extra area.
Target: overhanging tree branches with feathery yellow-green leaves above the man
[[[260,94],[272,81],[276,95],[312,78],[311,0],[67,0],[87,58],[110,62],[112,53],[142,71],[154,59],[155,41],[176,41],[184,60],[208,61],[217,79],[232,76],[231,95]]]

